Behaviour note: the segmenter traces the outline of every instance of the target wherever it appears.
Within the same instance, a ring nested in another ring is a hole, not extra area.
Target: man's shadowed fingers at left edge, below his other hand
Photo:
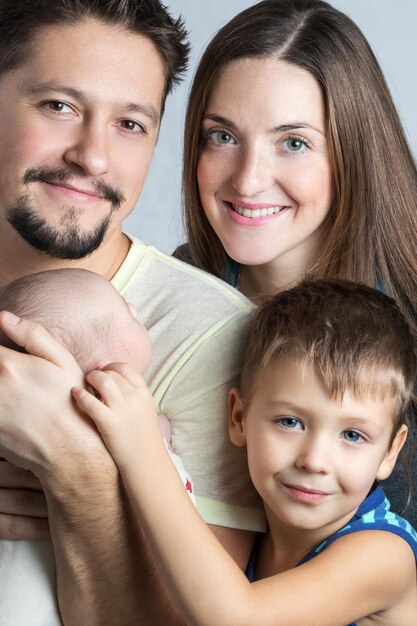
[[[47,515],[34,474],[0,460],[0,539],[47,539]]]

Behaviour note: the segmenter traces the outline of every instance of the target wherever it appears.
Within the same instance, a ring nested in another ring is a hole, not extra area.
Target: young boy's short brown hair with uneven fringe
[[[295,359],[314,366],[333,398],[350,390],[396,398],[393,435],[407,422],[417,377],[416,341],[394,300],[363,284],[305,280],[254,315],[241,390],[244,407],[262,370]]]

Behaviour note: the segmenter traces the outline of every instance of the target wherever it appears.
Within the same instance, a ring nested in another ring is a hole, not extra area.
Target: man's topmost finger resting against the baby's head
[[[76,366],[74,357],[37,322],[1,311],[0,329],[29,354],[46,359],[58,367]],[[9,348],[0,346],[0,355],[9,352]]]

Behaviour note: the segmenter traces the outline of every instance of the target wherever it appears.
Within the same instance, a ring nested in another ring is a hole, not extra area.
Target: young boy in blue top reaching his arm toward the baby
[[[142,378],[128,366],[92,372],[103,402],[73,394],[120,468],[186,621],[414,626],[417,534],[390,512],[378,481],[405,443],[416,375],[407,324],[371,288],[306,281],[257,312],[241,387],[229,396],[230,437],[247,447],[268,520],[253,584],[184,497]],[[176,513],[169,524],[166,511]]]

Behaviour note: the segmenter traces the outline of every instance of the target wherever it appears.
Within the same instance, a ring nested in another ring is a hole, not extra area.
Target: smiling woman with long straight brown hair
[[[346,15],[265,0],[226,24],[195,75],[184,154],[188,246],[176,256],[254,302],[306,274],[364,282],[417,333],[416,167]],[[388,489],[397,510],[403,474]],[[417,507],[405,515],[416,524]]]

